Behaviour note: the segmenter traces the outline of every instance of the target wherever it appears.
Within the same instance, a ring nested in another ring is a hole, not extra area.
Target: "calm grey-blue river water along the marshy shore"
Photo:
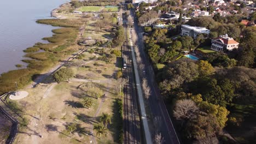
[[[38,19],[50,18],[51,10],[67,0],[12,0],[0,3],[0,74],[17,69],[27,47],[37,42],[47,43],[43,37],[50,37],[49,25],[36,23]]]

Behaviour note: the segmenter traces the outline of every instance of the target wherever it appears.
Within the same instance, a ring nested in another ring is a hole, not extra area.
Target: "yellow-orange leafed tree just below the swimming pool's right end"
[[[214,68],[207,61],[200,60],[197,65],[198,65],[200,76],[208,76],[208,75],[211,75],[214,72]]]

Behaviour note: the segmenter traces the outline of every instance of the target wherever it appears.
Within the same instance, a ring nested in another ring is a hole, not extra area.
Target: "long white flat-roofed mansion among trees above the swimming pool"
[[[210,30],[206,29],[205,27],[193,27],[189,25],[182,25],[181,27],[181,35],[183,36],[190,36],[192,38],[196,38],[198,34],[205,33],[209,34]]]

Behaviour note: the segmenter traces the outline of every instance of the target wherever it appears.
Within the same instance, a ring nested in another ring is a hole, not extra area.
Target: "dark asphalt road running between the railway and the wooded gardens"
[[[135,17],[134,11],[131,12],[131,15]],[[179,139],[177,137],[176,131],[173,127],[171,118],[168,115],[168,111],[164,104],[164,100],[162,100],[159,88],[156,84],[153,67],[144,51],[142,30],[141,27],[138,26],[136,19],[134,20],[134,28],[138,35],[137,45],[141,53],[142,64],[145,65],[146,75],[144,75],[144,77],[147,79],[148,86],[152,91],[152,95],[150,95],[148,99],[150,111],[152,112],[154,118],[158,118],[158,129],[155,129],[154,132],[160,131],[161,135],[164,137],[164,143],[179,144]]]

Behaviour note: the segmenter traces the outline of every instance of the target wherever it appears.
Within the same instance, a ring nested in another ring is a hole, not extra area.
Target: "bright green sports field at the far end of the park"
[[[82,12],[118,11],[118,7],[84,6],[79,9]]]

